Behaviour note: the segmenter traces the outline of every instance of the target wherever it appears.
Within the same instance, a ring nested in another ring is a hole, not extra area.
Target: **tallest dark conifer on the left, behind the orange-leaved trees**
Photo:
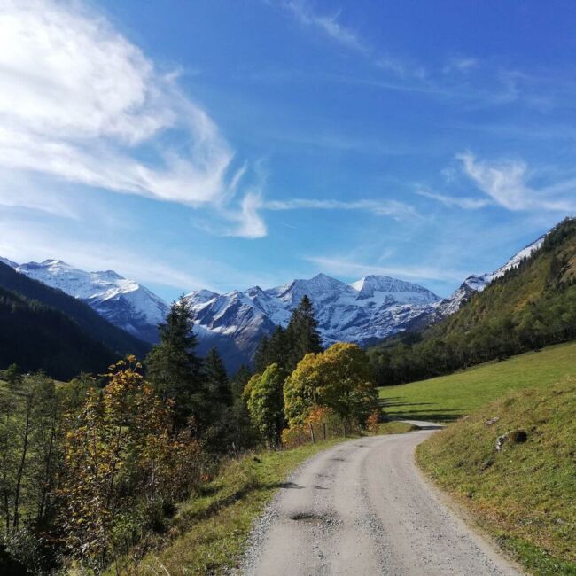
[[[176,300],[160,324],[160,344],[146,357],[147,377],[164,402],[174,402],[174,424],[182,428],[191,417],[204,420],[206,388],[201,362],[195,353],[192,311],[183,297]]]

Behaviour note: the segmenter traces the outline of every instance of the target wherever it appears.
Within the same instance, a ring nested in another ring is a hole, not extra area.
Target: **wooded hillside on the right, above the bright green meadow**
[[[576,338],[576,220],[454,315],[368,351],[378,385],[432,378]]]

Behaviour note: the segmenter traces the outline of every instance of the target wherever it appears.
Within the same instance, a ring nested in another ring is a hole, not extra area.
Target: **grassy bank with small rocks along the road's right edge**
[[[566,378],[506,395],[416,449],[422,469],[537,576],[576,575],[574,415],[576,378]],[[497,452],[496,439],[518,430],[527,440]]]

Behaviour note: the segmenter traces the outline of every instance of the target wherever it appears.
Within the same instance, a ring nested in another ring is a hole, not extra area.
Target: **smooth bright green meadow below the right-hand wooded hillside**
[[[487,362],[449,376],[380,388],[393,417],[449,422],[512,390],[547,386],[576,376],[576,342]]]

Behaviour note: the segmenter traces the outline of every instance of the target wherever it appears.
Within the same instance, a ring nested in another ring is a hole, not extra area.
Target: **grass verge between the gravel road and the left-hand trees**
[[[183,502],[169,532],[138,564],[126,557],[108,573],[224,574],[237,567],[253,521],[286,478],[317,452],[346,440],[331,439],[280,452],[261,451],[230,460],[221,473]],[[350,439],[347,439],[350,440]]]

